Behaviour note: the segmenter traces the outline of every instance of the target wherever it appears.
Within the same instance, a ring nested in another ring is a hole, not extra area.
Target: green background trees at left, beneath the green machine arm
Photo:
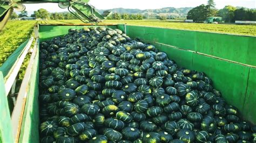
[[[28,17],[27,11],[22,11],[17,15],[17,13],[12,12],[11,19],[16,19],[20,17]],[[36,19],[52,19],[52,20],[62,20],[62,19],[78,19],[76,16],[72,15],[70,12],[62,12],[62,13],[50,13],[45,9],[39,9],[34,11],[30,17],[35,17]]]

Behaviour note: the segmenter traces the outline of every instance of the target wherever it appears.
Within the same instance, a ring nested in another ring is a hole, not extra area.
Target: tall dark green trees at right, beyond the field
[[[227,5],[223,9],[215,9],[213,0],[208,0],[207,5],[199,5],[187,13],[187,19],[193,19],[194,22],[204,22],[207,17],[222,17],[226,23],[234,23],[235,20],[256,21],[256,10],[240,8]]]

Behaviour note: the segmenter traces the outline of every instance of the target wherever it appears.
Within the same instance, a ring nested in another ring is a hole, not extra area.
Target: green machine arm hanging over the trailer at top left
[[[8,21],[14,9],[17,11],[25,10],[23,3],[58,3],[59,8],[68,8],[68,10],[82,20],[82,22],[98,24],[104,17],[88,2],[89,0],[0,0],[0,31]],[[109,13],[110,12],[106,12],[105,16]]]

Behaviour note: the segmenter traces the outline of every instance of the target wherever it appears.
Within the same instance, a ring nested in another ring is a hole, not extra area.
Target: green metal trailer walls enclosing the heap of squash
[[[68,33],[69,28],[83,27],[40,25],[39,38],[44,41]],[[151,42],[181,67],[204,71],[227,103],[256,124],[256,37],[130,25],[109,27],[123,30],[131,38]],[[38,55],[36,58],[38,62]],[[35,88],[30,90],[26,102],[19,142],[39,142],[38,66],[33,71]]]

